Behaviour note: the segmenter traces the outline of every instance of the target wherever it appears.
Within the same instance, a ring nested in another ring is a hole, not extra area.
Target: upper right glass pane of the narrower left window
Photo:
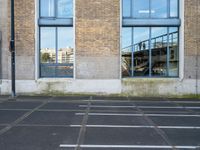
[[[73,17],[73,2],[72,0],[57,0],[57,17],[72,18]]]

